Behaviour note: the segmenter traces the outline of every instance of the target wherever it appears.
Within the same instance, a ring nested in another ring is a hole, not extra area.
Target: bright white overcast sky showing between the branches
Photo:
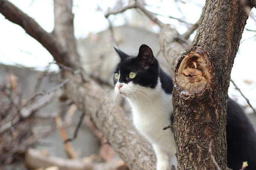
[[[34,18],[40,26],[46,31],[51,32],[54,26],[53,16],[53,0],[10,0],[15,6],[19,7],[23,12]],[[104,12],[108,7],[112,8],[116,0],[74,0],[73,12],[75,14],[74,26],[76,38],[84,38],[92,33],[97,33],[108,28],[108,21],[104,17]],[[173,16],[183,18],[188,23],[195,23],[200,17],[204,0],[145,0],[148,4],[147,9],[165,16]],[[196,2],[196,3],[195,3]],[[102,11],[96,10],[98,8]],[[256,9],[253,9],[256,14]],[[125,24],[126,20],[131,21],[131,12],[126,11],[124,14],[110,16],[114,26]],[[164,23],[171,23],[182,34],[186,31],[186,26],[166,17],[158,17]],[[256,19],[256,17],[254,17]],[[36,67],[38,70],[44,70],[48,62],[52,62],[53,58],[49,52],[42,47],[40,43],[27,35],[25,31],[0,14],[0,62],[9,65],[25,65],[27,67]],[[256,30],[256,22],[249,18],[247,20],[247,29]],[[154,27],[154,32],[159,28]],[[244,31],[239,46],[239,52],[236,56],[231,78],[241,88],[243,93],[250,99],[256,108],[256,32]],[[195,34],[190,38],[191,40]],[[254,37],[253,37],[254,36]],[[253,38],[251,38],[253,37]],[[58,70],[56,65],[52,65],[50,70]],[[251,82],[251,83],[250,83]],[[230,85],[229,95],[231,97],[238,96],[239,103],[245,105],[246,102],[239,95],[233,85]],[[250,110],[249,110],[250,111]]]

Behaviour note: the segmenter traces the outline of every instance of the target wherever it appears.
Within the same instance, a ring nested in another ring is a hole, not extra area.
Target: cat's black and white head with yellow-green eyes
[[[156,88],[159,64],[151,48],[141,45],[137,56],[130,56],[116,47],[115,50],[121,59],[113,74],[116,94],[133,98],[134,94]]]

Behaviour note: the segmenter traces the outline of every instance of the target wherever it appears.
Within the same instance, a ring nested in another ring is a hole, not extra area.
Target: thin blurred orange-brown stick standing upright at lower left
[[[67,140],[67,132],[63,127],[63,123],[62,123],[60,116],[55,118],[55,123],[56,123],[56,126],[58,127],[58,129],[60,130],[62,140],[66,141]],[[65,142],[64,148],[65,148],[65,152],[69,159],[76,159],[77,155],[76,155],[70,142]]]

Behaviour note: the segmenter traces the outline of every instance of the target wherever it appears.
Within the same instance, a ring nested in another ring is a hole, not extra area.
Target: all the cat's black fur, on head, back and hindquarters
[[[163,90],[167,94],[172,94],[172,78],[160,68],[151,48],[141,45],[138,56],[129,56],[118,48],[115,49],[121,59],[114,71],[121,74],[119,82],[132,81],[134,84],[155,88],[157,79],[160,78]],[[128,77],[131,71],[137,74],[134,79]],[[116,84],[117,80],[113,78],[113,81]],[[173,122],[173,113],[170,114],[170,122]],[[239,170],[243,161],[248,161],[249,165],[245,170],[256,170],[256,132],[241,106],[228,99],[227,166]]]

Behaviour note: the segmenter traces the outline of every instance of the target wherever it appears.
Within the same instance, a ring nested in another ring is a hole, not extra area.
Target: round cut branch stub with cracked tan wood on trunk
[[[213,79],[212,72],[207,52],[201,47],[192,48],[177,63],[174,85],[183,99],[203,94]]]

